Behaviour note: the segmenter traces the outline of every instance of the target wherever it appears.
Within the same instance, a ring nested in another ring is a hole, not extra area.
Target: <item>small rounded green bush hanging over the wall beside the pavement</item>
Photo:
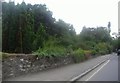
[[[76,63],[85,60],[85,56],[84,56],[85,53],[84,53],[84,50],[82,50],[81,48],[75,50],[73,52],[73,55],[74,55],[74,60],[75,60]]]

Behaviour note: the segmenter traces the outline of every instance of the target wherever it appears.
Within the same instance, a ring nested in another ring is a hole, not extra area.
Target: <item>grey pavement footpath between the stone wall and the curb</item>
[[[4,79],[3,81],[69,81],[75,76],[102,62],[103,60],[108,60],[112,56],[113,54],[99,56],[82,63],[70,64],[34,74]]]

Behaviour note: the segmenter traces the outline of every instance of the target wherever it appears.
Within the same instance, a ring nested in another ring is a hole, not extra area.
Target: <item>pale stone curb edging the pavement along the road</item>
[[[73,83],[73,82],[77,81],[78,79],[82,78],[83,76],[85,76],[86,74],[88,74],[89,72],[91,72],[92,70],[94,70],[95,68],[97,68],[98,66],[100,66],[101,64],[103,64],[105,61],[107,61],[107,60],[104,60],[104,61],[100,62],[99,64],[97,64],[94,67],[88,69],[87,71],[83,72],[82,74],[80,74],[80,75],[78,75],[78,76],[70,79],[69,80],[70,83]]]

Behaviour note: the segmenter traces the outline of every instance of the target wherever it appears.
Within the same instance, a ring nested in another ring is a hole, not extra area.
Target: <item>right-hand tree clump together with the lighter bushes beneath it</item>
[[[84,50],[91,50],[92,55],[111,53],[112,38],[107,27],[86,28],[83,27],[79,34],[78,47]]]

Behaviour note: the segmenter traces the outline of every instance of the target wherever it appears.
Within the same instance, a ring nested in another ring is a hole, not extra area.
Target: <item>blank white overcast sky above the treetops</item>
[[[7,1],[7,0],[5,0]],[[13,1],[13,0],[11,0]],[[14,0],[21,3],[23,0]],[[24,0],[31,4],[46,4],[53,12],[53,17],[73,24],[77,34],[83,26],[107,27],[111,22],[111,30],[118,32],[118,1],[120,0]]]

